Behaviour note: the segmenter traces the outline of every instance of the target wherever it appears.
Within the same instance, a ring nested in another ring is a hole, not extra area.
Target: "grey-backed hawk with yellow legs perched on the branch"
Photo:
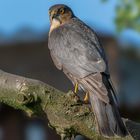
[[[55,66],[75,87],[84,90],[95,114],[97,130],[105,137],[125,137],[105,50],[97,34],[64,4],[49,8],[48,48]]]

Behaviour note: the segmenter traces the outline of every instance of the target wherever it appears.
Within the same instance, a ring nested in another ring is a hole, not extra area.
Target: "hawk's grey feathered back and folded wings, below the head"
[[[94,32],[80,20],[74,19],[52,31],[49,49],[57,68],[64,67],[77,78],[107,71],[103,48]]]

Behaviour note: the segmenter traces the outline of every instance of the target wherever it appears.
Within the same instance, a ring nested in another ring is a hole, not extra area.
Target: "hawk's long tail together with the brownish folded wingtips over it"
[[[90,75],[84,78],[82,84],[89,91],[91,106],[101,135],[126,136],[128,133],[116,105],[115,91],[107,75]]]

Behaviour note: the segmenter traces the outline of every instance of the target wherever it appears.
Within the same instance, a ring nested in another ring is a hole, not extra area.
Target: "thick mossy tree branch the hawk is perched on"
[[[89,139],[105,139],[96,131],[89,105],[82,104],[71,91],[63,93],[43,82],[0,71],[0,102],[26,112],[29,117],[45,117],[62,139],[77,134]],[[111,138],[116,139],[120,138]],[[121,140],[131,139],[128,136]]]

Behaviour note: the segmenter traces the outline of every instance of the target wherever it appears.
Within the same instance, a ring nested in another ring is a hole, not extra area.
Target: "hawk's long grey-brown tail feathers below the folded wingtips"
[[[104,103],[93,93],[89,93],[89,96],[101,135],[106,137],[126,136],[127,130],[116,106]]]

